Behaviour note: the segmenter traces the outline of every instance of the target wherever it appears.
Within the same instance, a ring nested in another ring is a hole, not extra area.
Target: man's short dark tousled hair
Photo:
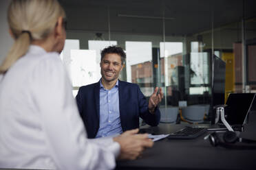
[[[113,46],[109,46],[109,47],[103,49],[103,51],[100,52],[100,56],[101,56],[100,61],[103,60],[104,56],[107,53],[118,54],[121,57],[122,64],[125,63],[126,54],[125,54],[125,51],[123,51],[121,47],[116,47],[115,45],[113,45]]]

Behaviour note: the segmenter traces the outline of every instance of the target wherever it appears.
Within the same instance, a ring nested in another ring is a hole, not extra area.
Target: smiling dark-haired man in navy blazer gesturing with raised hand
[[[125,52],[110,46],[101,51],[101,79],[82,86],[76,95],[78,110],[85,124],[88,138],[121,134],[139,127],[139,117],[152,126],[158,125],[158,104],[163,93],[155,88],[149,102],[137,84],[118,80],[125,63]]]

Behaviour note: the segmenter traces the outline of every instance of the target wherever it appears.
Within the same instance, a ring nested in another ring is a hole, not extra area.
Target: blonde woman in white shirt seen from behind
[[[114,169],[116,158],[153,145],[138,130],[87,139],[58,57],[66,37],[58,1],[14,0],[8,23],[15,41],[0,66],[0,168]]]

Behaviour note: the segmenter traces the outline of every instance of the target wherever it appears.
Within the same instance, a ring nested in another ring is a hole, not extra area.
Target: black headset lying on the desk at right
[[[256,143],[256,141],[247,139],[247,138],[239,138],[235,132],[227,131],[223,135],[223,141],[217,135],[216,132],[213,132],[209,135],[209,141],[213,147],[217,147],[218,145],[221,147],[226,147],[228,149],[256,149],[256,145],[235,145],[236,142],[242,143]]]

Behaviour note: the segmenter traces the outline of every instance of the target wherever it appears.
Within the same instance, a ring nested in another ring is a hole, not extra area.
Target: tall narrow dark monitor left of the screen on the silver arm
[[[213,55],[212,68],[212,98],[209,115],[211,118],[211,124],[215,124],[214,106],[222,105],[225,102],[226,62],[224,62],[221,58]]]

